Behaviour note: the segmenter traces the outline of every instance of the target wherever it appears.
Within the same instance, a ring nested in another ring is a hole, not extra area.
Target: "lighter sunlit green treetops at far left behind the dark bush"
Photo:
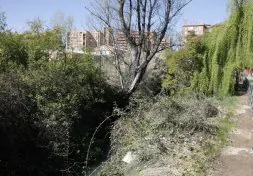
[[[61,46],[61,38],[57,30],[48,30],[39,34],[2,32],[0,33],[1,70],[6,70],[10,65],[27,67],[28,64],[38,60],[49,61],[51,53],[61,51]]]

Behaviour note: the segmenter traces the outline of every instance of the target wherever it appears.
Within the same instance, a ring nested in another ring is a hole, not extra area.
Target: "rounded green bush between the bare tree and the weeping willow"
[[[184,93],[191,87],[191,80],[195,73],[199,73],[203,65],[204,45],[201,38],[195,35],[188,37],[187,45],[180,51],[167,51],[168,72],[163,87],[169,89],[170,94]]]

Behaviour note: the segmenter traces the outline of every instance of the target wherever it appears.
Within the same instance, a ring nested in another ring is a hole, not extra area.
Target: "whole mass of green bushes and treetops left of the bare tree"
[[[120,99],[89,54],[49,61],[54,34],[1,33],[1,175],[81,174],[92,133]],[[106,158],[109,125],[96,135],[88,166]]]

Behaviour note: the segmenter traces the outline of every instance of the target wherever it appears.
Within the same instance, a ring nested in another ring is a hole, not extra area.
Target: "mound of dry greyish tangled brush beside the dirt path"
[[[161,175],[203,175],[232,127],[216,103],[196,94],[141,102],[115,122],[111,158],[100,175],[155,175],[159,168]],[[122,159],[129,151],[135,157],[126,164]]]

